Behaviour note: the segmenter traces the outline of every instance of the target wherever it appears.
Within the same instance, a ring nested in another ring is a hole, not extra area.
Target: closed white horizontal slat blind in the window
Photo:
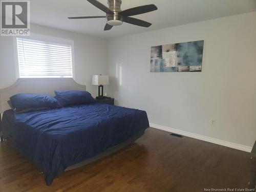
[[[17,38],[17,50],[20,78],[73,77],[71,45]]]

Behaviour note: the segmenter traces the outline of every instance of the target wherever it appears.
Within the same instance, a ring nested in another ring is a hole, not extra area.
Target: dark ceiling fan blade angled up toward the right
[[[124,11],[121,11],[120,14],[124,17],[128,17],[133,15],[148,13],[155,10],[157,10],[157,7],[154,4],[151,4],[151,5],[143,5],[143,6],[134,7],[131,9],[126,9]]]

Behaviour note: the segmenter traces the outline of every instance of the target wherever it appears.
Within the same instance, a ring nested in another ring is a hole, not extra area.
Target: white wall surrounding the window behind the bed
[[[87,86],[87,90],[97,95],[97,86],[92,86],[92,75],[107,74],[106,40],[88,35],[31,25],[31,33],[74,40],[75,80]],[[13,38],[0,36],[0,89],[11,86],[16,81]]]

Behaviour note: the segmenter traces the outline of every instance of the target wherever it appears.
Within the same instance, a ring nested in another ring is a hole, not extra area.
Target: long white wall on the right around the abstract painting
[[[255,34],[252,12],[110,39],[112,96],[121,106],[145,110],[151,123],[252,146]],[[150,73],[151,46],[202,39],[201,73]]]

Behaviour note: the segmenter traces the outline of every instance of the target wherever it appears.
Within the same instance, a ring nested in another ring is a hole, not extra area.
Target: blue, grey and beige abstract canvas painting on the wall
[[[151,72],[201,72],[204,41],[151,47]]]

